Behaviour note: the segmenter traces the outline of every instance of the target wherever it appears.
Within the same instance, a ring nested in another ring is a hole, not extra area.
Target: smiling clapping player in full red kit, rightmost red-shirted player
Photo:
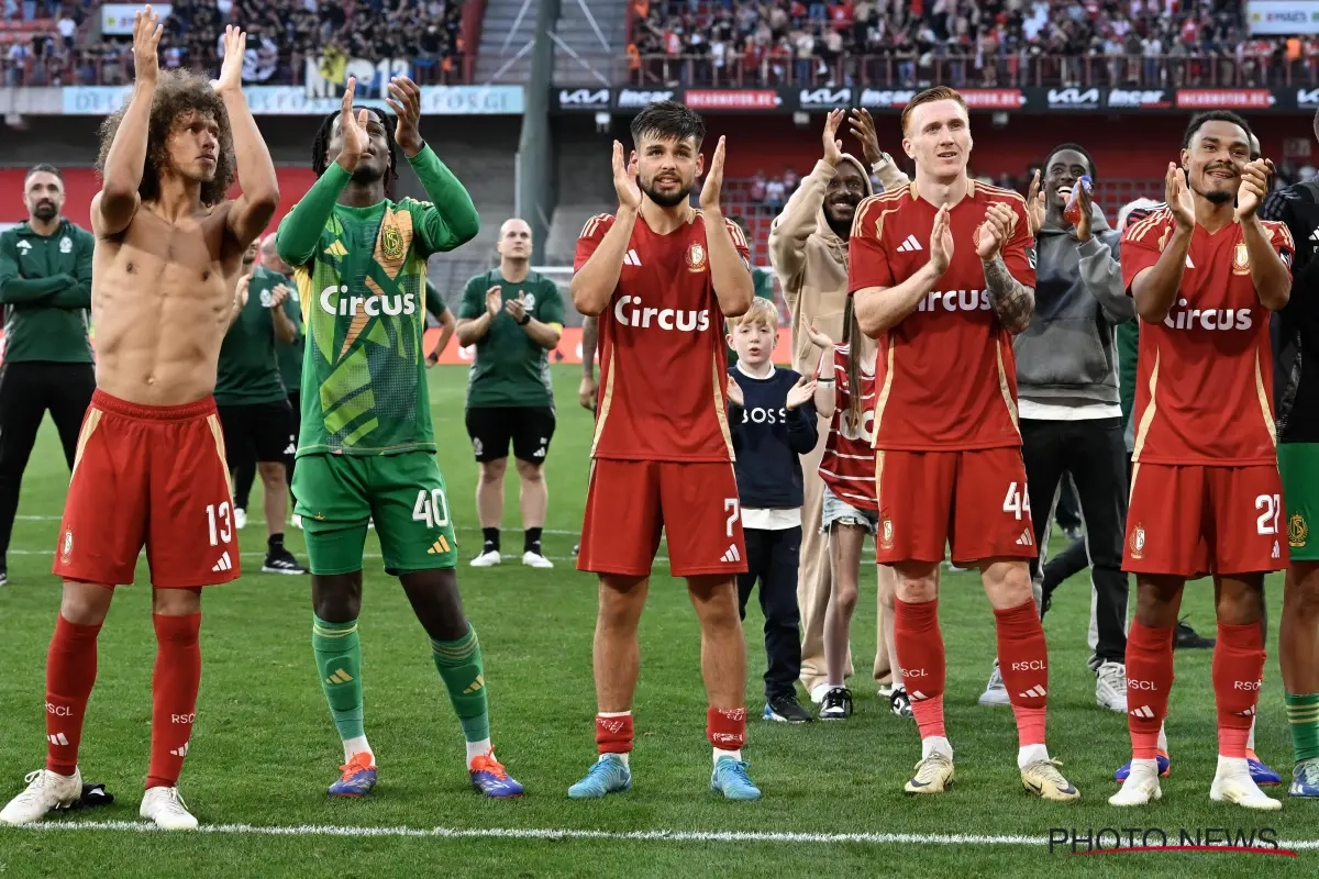
[[[1132,766],[1112,805],[1161,796],[1158,738],[1187,580],[1213,575],[1219,760],[1210,799],[1275,810],[1248,747],[1264,677],[1264,577],[1287,565],[1269,315],[1287,304],[1294,244],[1256,215],[1269,165],[1236,113],[1191,120],[1165,207],[1130,224],[1122,282],[1142,320],[1124,569],[1137,575],[1126,642]]]

